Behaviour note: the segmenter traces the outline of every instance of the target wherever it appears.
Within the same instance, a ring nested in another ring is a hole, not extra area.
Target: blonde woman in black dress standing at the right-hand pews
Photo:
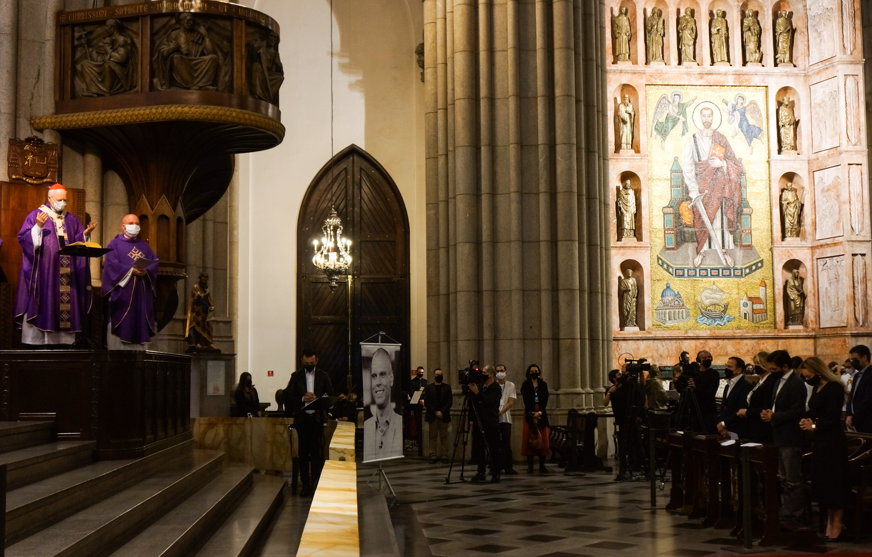
[[[812,356],[802,362],[800,375],[813,387],[808,399],[808,418],[800,427],[812,433],[812,500],[827,509],[824,540],[841,538],[841,515],[848,505],[848,439],[841,427],[845,385],[822,359]]]

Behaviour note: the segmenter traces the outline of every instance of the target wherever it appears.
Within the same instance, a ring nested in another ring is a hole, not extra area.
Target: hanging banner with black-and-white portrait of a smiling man
[[[364,376],[364,462],[403,458],[401,347],[360,343]]]

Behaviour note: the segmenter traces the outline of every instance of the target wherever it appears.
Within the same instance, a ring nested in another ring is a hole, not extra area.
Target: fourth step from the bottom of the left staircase
[[[6,543],[15,543],[64,520],[190,453],[193,441],[142,459],[101,460],[6,493]]]

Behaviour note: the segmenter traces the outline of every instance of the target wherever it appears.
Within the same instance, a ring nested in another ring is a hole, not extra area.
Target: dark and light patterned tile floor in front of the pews
[[[567,477],[552,473],[504,476],[492,484],[445,484],[447,465],[406,458],[385,462],[399,503],[414,509],[435,556],[581,557],[618,553],[703,557],[735,555],[740,546],[726,530],[702,527],[699,520],[651,510],[647,483],[616,483],[610,473]],[[377,466],[360,465],[366,481]],[[471,479],[474,473],[468,473]],[[457,479],[456,471],[452,480]],[[667,500],[657,493],[660,507]],[[366,535],[362,533],[362,535]],[[778,547],[766,554],[872,554],[872,541],[815,547]]]

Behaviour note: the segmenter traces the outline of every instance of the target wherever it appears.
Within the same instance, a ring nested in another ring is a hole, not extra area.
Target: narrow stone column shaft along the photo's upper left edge
[[[16,137],[18,0],[0,0],[0,13],[0,153],[5,158],[10,138]],[[9,179],[6,171],[0,164],[0,179]]]

